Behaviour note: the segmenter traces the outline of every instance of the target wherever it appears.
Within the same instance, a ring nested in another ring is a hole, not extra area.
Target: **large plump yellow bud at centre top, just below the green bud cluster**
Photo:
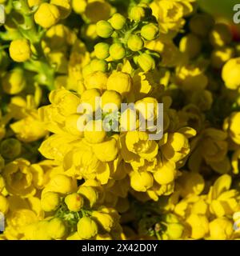
[[[122,97],[125,97],[126,94],[130,93],[132,88],[132,78],[129,74],[115,71],[114,73],[110,74],[110,77],[106,83],[107,90],[115,90]]]

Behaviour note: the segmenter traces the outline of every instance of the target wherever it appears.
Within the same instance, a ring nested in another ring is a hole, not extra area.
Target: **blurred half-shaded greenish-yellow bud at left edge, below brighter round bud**
[[[26,86],[23,70],[18,68],[6,73],[2,78],[2,89],[6,94],[19,94]]]

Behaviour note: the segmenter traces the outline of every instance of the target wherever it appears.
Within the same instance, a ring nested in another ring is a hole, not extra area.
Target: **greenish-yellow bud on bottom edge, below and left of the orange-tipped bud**
[[[48,224],[47,233],[53,239],[61,239],[65,237],[67,228],[62,218],[52,218]]]

